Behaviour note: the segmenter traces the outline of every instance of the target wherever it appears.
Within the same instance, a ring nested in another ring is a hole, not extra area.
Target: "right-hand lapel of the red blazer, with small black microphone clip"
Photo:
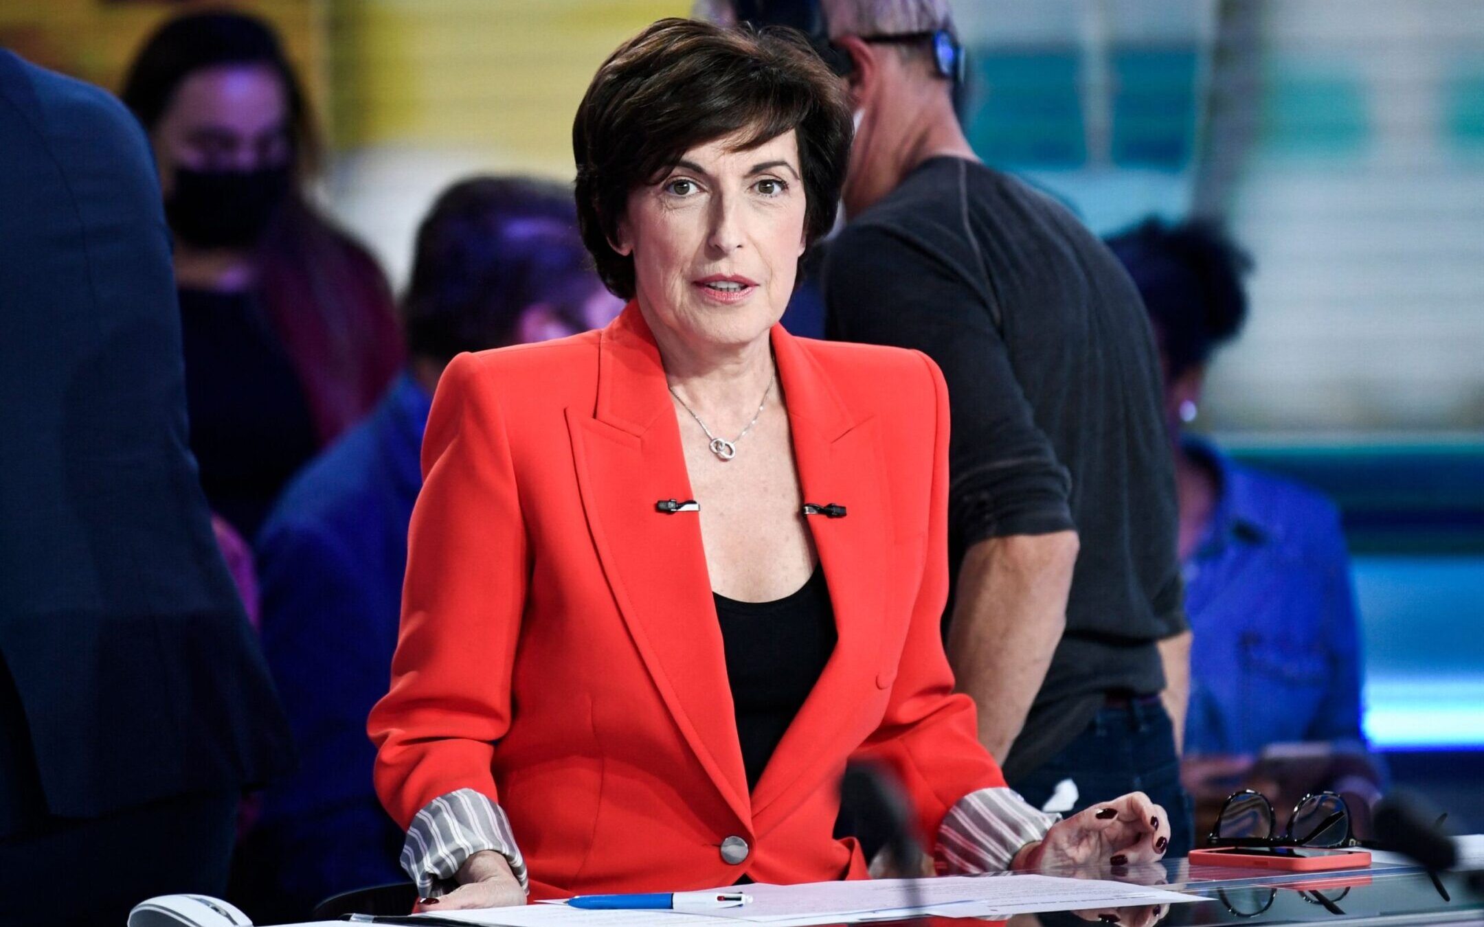
[[[822,777],[837,774],[840,758],[868,733],[852,727],[852,721],[859,716],[861,702],[876,693],[883,577],[892,543],[876,420],[855,420],[831,378],[782,326],[773,329],[773,356],[804,501],[835,503],[846,507],[846,515],[807,516],[830,584],[838,641],[752,794],[758,834],[791,813]]]

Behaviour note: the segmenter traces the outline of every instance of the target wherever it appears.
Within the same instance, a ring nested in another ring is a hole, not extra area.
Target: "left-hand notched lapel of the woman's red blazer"
[[[743,822],[746,773],[715,601],[665,371],[635,304],[600,338],[595,412],[567,409],[577,485],[634,645],[692,752]]]

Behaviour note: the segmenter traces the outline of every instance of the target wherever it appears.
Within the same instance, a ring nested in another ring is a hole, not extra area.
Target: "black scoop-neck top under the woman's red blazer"
[[[835,645],[834,607],[825,573],[818,567],[797,592],[773,602],[712,596],[727,651],[746,788],[754,789],[830,662]]]

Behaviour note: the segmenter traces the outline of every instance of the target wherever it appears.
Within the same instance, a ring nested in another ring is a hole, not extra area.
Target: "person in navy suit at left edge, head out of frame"
[[[187,448],[139,125],[0,49],[0,924],[221,893],[292,748]]]

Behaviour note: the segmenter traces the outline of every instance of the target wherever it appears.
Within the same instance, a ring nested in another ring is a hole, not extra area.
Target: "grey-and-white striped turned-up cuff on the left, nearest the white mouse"
[[[494,850],[510,862],[521,888],[530,891],[525,857],[515,845],[505,810],[473,789],[432,799],[413,819],[402,844],[402,869],[417,883],[420,897],[438,897],[459,887],[454,875],[466,859]]]

